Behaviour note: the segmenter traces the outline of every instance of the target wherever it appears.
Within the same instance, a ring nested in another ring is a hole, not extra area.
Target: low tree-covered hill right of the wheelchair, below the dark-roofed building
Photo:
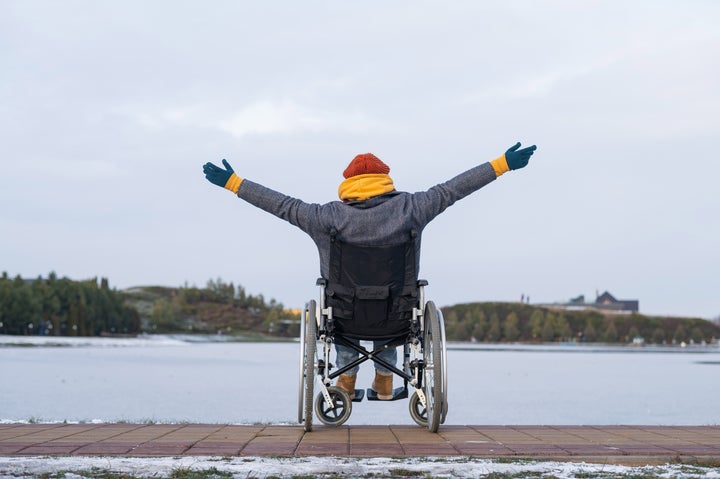
[[[627,343],[641,337],[646,343],[677,344],[720,338],[720,326],[699,318],[607,315],[522,303],[470,303],[442,310],[446,336],[453,341]]]

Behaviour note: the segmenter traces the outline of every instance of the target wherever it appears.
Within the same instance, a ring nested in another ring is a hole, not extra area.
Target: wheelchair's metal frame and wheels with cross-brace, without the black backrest
[[[385,338],[389,342],[373,351],[348,341],[328,327],[333,313],[332,307],[326,306],[326,284],[322,278],[317,281],[319,302],[308,301],[300,316],[298,423],[304,424],[305,431],[312,431],[313,395],[317,384],[319,392],[314,412],[318,419],[328,426],[344,424],[352,412],[353,401],[361,401],[364,392],[356,390],[355,397],[351,398],[343,389],[332,386],[332,380],[359,364],[373,361],[403,379],[403,386],[393,391],[392,400],[407,398],[408,387],[414,389],[409,403],[410,416],[419,426],[437,432],[448,411],[447,349],[442,311],[432,301],[425,301],[427,281],[417,282],[418,304],[413,308],[407,331],[394,338]],[[360,357],[333,371],[334,366],[330,362],[333,343],[356,350]],[[400,345],[403,346],[402,369],[375,356],[385,348]],[[371,393],[368,389],[368,400],[373,400]]]

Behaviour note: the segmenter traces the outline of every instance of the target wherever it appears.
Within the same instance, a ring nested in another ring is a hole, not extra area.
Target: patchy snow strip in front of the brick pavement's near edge
[[[0,479],[30,477],[103,477],[103,473],[130,477],[166,478],[178,471],[205,471],[236,478],[347,477],[476,478],[489,474],[507,477],[558,479],[610,477],[662,477],[718,479],[720,469],[680,464],[629,467],[573,462],[493,462],[477,458],[427,457],[422,459],[347,457],[0,457]],[[72,473],[72,474],[70,474]]]

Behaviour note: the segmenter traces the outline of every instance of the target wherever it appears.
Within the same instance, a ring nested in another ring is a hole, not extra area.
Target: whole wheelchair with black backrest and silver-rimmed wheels
[[[412,419],[430,432],[445,422],[447,402],[447,351],[442,312],[425,301],[428,282],[415,273],[415,239],[391,246],[366,246],[339,241],[332,232],[330,278],[317,280],[319,300],[310,300],[300,315],[300,368],[298,423],[312,431],[313,411],[327,426],[344,424],[353,402],[361,402],[366,391],[354,397],[332,386],[332,381],[366,361],[381,364],[402,378],[391,401],[407,399]],[[382,340],[368,350],[357,341]],[[336,368],[330,362],[333,344],[359,353],[358,359]],[[376,355],[386,348],[402,346],[401,368]],[[317,397],[313,397],[317,390]],[[313,407],[314,399],[314,407]],[[367,389],[367,399],[377,393]]]

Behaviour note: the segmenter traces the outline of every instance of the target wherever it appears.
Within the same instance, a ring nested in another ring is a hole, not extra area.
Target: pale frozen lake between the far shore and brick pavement
[[[18,340],[0,337],[2,421],[297,423],[297,343],[3,347]],[[364,364],[358,387],[372,374]],[[446,424],[720,424],[717,345],[450,344],[448,383]],[[354,403],[347,424],[414,424],[407,408],[407,400]]]

